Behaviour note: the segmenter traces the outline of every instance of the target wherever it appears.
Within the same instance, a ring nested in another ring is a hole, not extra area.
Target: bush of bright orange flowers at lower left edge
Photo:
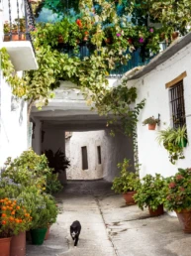
[[[24,204],[8,197],[0,199],[0,238],[29,230],[32,216]]]

